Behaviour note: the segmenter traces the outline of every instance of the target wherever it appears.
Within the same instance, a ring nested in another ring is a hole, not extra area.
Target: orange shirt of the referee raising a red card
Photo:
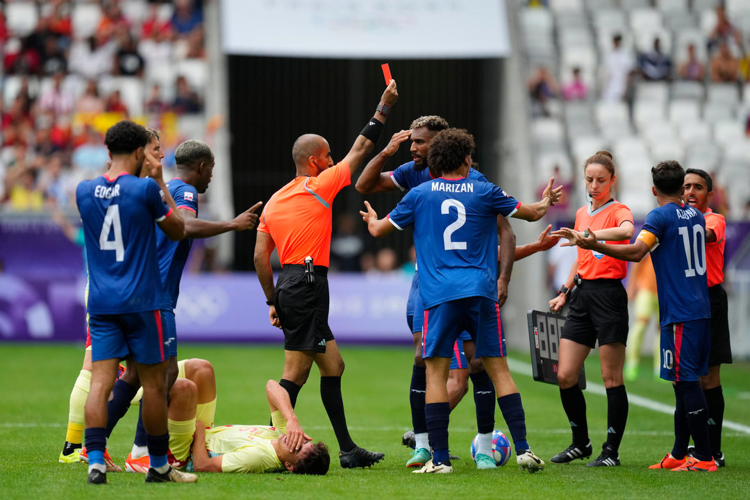
[[[305,264],[328,267],[331,256],[332,202],[351,184],[349,162],[341,161],[317,177],[297,177],[271,196],[260,216],[258,231],[269,233],[281,265]]]

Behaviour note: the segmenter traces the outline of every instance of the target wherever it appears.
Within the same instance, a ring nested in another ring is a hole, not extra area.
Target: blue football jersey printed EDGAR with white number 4
[[[159,309],[162,286],[154,220],[169,206],[154,179],[122,174],[82,181],[76,202],[83,220],[92,314]]]

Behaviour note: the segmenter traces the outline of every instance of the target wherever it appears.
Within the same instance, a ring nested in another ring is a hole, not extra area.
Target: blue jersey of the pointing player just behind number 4
[[[166,184],[177,208],[187,208],[198,216],[198,190],[182,179],[173,178]],[[182,270],[193,246],[192,238],[172,241],[163,231],[156,232],[156,250],[159,257],[159,272],[164,286],[162,309],[173,310],[177,307],[177,297],[180,294],[180,279]]]

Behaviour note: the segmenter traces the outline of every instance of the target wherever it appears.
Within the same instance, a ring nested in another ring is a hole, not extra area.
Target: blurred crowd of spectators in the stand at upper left
[[[74,211],[75,187],[106,171],[104,131],[122,118],[160,129],[171,166],[181,119],[203,111],[202,16],[201,0],[5,2],[1,209]]]

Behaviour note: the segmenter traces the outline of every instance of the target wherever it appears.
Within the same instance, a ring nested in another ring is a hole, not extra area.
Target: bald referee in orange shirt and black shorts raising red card
[[[311,133],[297,138],[292,148],[297,176],[266,203],[255,243],[255,268],[266,293],[269,319],[284,331],[284,375],[279,384],[295,406],[313,362],[318,365],[320,398],[336,433],[339,461],[344,468],[369,467],[384,455],[354,443],[344,414],[344,360],[328,324],[331,205],[338,192],[351,184],[351,176],[374,148],[397,99],[396,82],[391,80],[375,115],[359,133],[349,154],[335,165],[326,139]],[[275,247],[281,259],[276,286],[270,262]]]

